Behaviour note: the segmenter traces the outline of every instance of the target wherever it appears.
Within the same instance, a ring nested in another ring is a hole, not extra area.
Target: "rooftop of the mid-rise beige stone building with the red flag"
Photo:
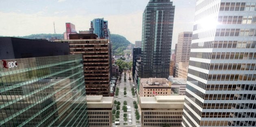
[[[166,78],[141,78],[140,83],[143,87],[170,87]]]

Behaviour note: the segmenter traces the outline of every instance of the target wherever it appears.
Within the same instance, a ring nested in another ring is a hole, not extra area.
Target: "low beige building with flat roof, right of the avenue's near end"
[[[141,127],[181,127],[184,96],[140,97]]]

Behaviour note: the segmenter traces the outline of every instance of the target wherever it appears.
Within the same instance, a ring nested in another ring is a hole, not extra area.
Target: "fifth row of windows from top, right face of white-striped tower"
[[[192,54],[192,53],[191,53]],[[256,60],[256,52],[213,52],[212,60]]]

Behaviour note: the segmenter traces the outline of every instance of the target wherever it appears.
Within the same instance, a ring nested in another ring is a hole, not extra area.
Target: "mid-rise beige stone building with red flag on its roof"
[[[171,95],[171,84],[166,78],[140,78],[140,97]]]

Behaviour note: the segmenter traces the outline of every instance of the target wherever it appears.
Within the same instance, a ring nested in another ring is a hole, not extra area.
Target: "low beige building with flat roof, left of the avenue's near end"
[[[89,127],[112,127],[114,97],[87,95]]]

